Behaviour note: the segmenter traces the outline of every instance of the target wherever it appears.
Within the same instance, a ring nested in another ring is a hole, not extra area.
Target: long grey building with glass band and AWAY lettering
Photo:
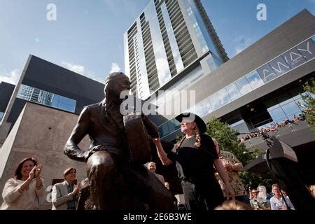
[[[302,85],[314,78],[314,24],[314,15],[303,10],[198,80],[186,89],[196,91],[188,111],[204,120],[221,118],[239,132],[298,116],[300,94],[307,94]],[[162,137],[174,139],[176,125],[174,119],[158,124]]]

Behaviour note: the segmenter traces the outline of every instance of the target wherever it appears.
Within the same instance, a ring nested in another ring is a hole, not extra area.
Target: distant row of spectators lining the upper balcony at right
[[[287,120],[283,120],[283,123],[275,123],[275,124],[269,125],[269,127],[262,127],[259,130],[252,132],[251,134],[246,134],[246,136],[240,137],[239,141],[243,142],[248,139],[255,138],[255,137],[261,137],[262,133],[276,132],[278,131],[280,127],[285,127],[286,125],[297,123],[299,120],[305,120],[305,116],[300,114],[298,117],[296,117],[294,115],[291,120],[287,119]]]

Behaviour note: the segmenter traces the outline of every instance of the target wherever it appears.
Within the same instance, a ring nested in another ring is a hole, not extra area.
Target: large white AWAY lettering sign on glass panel
[[[305,62],[314,59],[315,42],[314,38],[309,38],[307,41],[300,43],[295,48],[284,52],[279,57],[276,57],[271,62],[257,69],[264,83],[273,80],[276,77],[282,76],[284,73],[294,69]]]

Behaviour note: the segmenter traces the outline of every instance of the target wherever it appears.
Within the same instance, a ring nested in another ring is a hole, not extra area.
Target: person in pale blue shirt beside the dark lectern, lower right
[[[288,196],[285,197],[283,195],[282,197],[279,186],[277,184],[272,185],[272,192],[274,193],[274,196],[270,199],[272,210],[295,210]],[[286,202],[284,202],[283,198],[284,200],[286,200]]]

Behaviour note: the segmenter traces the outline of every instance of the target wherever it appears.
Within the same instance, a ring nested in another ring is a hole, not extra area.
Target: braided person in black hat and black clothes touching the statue
[[[165,153],[160,138],[153,139],[163,165],[176,162],[188,209],[212,210],[222,204],[224,197],[214,176],[214,167],[223,179],[228,197],[235,193],[228,181],[228,174],[216,153],[216,145],[204,134],[207,125],[194,113],[182,113],[176,117],[181,123],[181,132],[186,134],[172,151]]]

